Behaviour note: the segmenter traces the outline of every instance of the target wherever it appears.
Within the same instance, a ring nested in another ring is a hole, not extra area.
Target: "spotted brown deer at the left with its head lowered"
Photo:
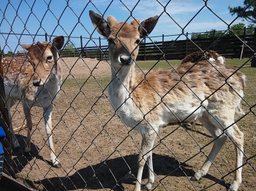
[[[31,151],[31,130],[33,126],[31,108],[41,106],[50,147],[50,160],[56,168],[60,168],[61,165],[53,147],[51,115],[53,101],[61,87],[62,74],[58,50],[61,49],[63,44],[64,36],[56,37],[53,39],[53,43],[20,44],[29,51],[27,56],[2,58],[1,61],[8,110],[10,111],[15,101],[20,101],[26,116],[28,133],[24,152]],[[19,149],[20,145],[15,137],[12,122],[10,122],[10,130],[13,147]]]

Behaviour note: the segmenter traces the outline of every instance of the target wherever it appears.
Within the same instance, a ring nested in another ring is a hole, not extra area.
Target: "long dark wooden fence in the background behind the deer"
[[[256,30],[255,30],[256,31]],[[255,32],[256,33],[256,32]],[[239,38],[238,38],[239,37]],[[199,50],[216,50],[219,54],[226,58],[250,58],[254,54],[252,50],[255,48],[255,36],[222,36],[205,39],[184,39],[177,41],[149,42],[146,39],[140,43],[138,61],[155,61],[162,58],[167,60],[181,60],[187,54]],[[100,42],[99,38],[99,42]],[[100,43],[99,43],[100,44]],[[81,51],[82,50],[82,51]],[[108,59],[108,46],[99,47],[80,47],[74,50],[62,50],[62,57],[84,57]]]

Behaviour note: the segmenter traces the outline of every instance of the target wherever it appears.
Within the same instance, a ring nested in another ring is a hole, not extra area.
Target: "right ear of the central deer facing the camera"
[[[153,31],[154,27],[157,25],[158,18],[159,18],[158,15],[156,15],[154,17],[150,17],[146,20],[143,20],[140,23],[140,27],[139,27],[140,39],[144,38],[145,36],[150,34],[151,31]]]

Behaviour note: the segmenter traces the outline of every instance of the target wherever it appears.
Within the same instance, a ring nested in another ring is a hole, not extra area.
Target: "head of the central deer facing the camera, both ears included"
[[[137,58],[140,39],[153,31],[158,16],[150,17],[140,23],[135,19],[129,23],[118,23],[116,18],[108,16],[108,20],[90,11],[91,22],[99,34],[108,39],[110,62],[115,69],[129,66]]]

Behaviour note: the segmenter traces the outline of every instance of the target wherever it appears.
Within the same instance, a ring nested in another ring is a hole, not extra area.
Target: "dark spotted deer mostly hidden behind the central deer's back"
[[[192,52],[189,55],[185,56],[183,61],[181,61],[181,64],[188,62],[196,63],[197,61],[217,61],[219,63],[225,64],[225,57],[219,55],[214,50],[197,50],[196,52]]]

